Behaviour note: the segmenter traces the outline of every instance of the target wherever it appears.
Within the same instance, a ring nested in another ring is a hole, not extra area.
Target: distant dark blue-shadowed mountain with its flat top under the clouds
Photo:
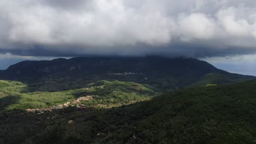
[[[210,74],[211,78],[208,77]],[[132,81],[160,89],[178,89],[254,78],[231,74],[193,58],[164,57],[58,58],[53,61],[24,61],[0,71],[0,79],[28,83],[31,91],[64,91],[98,80]]]

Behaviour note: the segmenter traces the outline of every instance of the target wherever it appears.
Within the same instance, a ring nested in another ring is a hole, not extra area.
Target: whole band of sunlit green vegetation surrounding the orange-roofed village
[[[148,100],[156,95],[153,90],[133,82],[98,81],[89,88],[60,92],[27,92],[29,88],[21,82],[2,81],[7,87],[0,89],[0,110],[26,110],[46,108],[72,102],[79,97],[94,95],[89,101],[81,101],[86,107],[112,107],[131,101]]]

